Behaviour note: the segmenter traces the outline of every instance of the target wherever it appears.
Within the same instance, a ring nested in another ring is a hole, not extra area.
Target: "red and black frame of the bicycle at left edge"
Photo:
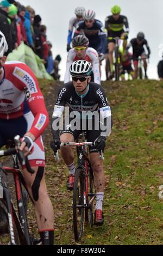
[[[0,186],[2,187],[3,202],[5,202],[5,205],[7,206],[7,211],[8,211],[8,222],[9,222],[11,245],[16,245],[14,228],[17,229],[17,233],[18,233],[18,237],[21,245],[30,245],[29,230],[28,230],[26,212],[24,210],[22,185],[21,185],[21,183],[25,183],[25,182],[20,170],[16,168],[17,157],[13,156],[12,158],[14,160],[13,168],[3,167],[2,163],[0,163]],[[6,182],[3,181],[4,173],[11,173],[14,176],[18,215],[15,210],[14,204],[12,202],[9,188]]]

